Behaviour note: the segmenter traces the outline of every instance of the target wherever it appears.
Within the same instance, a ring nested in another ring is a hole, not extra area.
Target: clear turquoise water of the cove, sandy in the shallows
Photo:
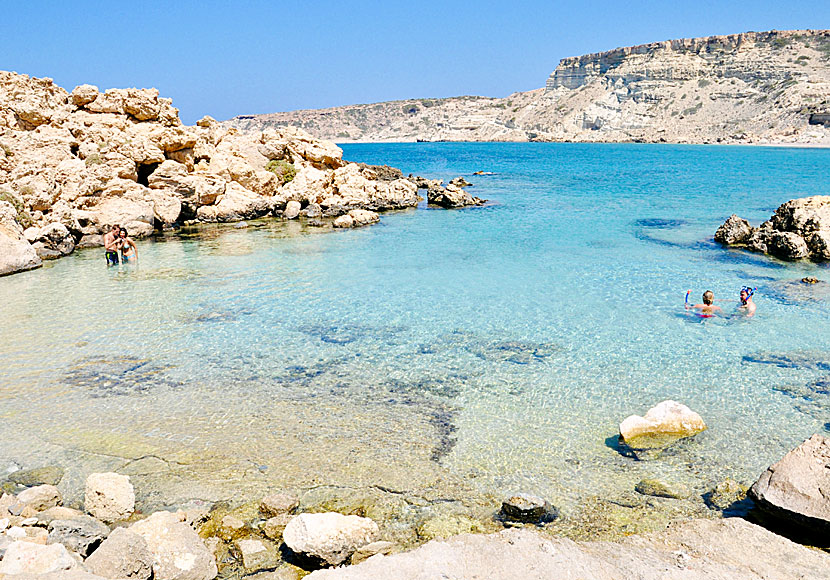
[[[826,295],[788,285],[827,268],[711,241],[730,213],[758,223],[827,194],[830,151],[344,156],[464,175],[491,203],[345,232],[205,228],[141,242],[134,269],[84,251],[0,279],[0,469],[67,465],[70,493],[120,469],[148,503],[330,484],[464,501],[529,491],[567,511],[643,477],[750,483],[830,420]],[[752,320],[683,312],[689,288],[734,298],[743,284],[758,286]],[[771,355],[789,362],[753,362]],[[621,456],[619,422],[666,398],[709,430],[659,461]]]

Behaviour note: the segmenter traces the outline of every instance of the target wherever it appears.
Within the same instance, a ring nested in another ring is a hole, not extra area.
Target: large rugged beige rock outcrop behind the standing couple
[[[439,205],[477,203],[464,193]],[[265,215],[356,227],[419,201],[400,171],[344,161],[300,129],[186,126],[155,89],[68,93],[0,71],[0,275],[101,245],[113,224],[133,237]]]

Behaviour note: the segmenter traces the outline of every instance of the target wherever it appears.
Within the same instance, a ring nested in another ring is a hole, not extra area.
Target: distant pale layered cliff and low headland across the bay
[[[830,144],[830,31],[747,32],[563,59],[544,89],[241,116],[348,141]]]

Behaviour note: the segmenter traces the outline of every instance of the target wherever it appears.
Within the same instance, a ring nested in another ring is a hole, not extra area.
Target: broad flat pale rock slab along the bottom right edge
[[[761,580],[827,578],[830,555],[739,518],[691,520],[620,542],[574,542],[527,528],[433,541],[307,580]]]

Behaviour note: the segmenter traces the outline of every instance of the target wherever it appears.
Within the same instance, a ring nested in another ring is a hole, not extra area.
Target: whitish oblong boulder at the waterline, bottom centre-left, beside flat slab
[[[337,566],[373,542],[378,532],[378,525],[369,518],[328,512],[300,514],[288,523],[282,537],[296,554]]]

